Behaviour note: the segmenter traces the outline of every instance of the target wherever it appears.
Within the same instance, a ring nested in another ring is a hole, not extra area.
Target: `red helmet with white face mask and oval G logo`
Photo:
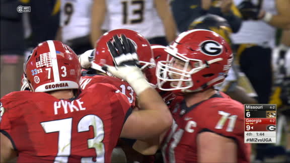
[[[173,57],[158,62],[158,87],[175,93],[203,91],[223,83],[233,61],[233,53],[227,41],[209,30],[183,32],[166,51]],[[173,66],[176,59],[185,63],[183,69]],[[171,82],[171,88],[164,88],[164,82]]]

